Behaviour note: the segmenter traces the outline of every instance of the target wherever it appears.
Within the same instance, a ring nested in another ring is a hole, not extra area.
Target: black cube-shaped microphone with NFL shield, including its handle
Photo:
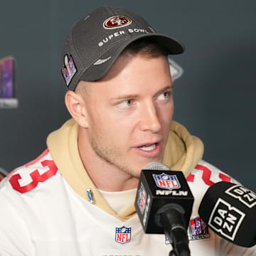
[[[193,201],[181,171],[161,163],[142,170],[135,199],[139,220],[145,233],[166,234],[173,247],[170,255],[190,255],[187,229]]]

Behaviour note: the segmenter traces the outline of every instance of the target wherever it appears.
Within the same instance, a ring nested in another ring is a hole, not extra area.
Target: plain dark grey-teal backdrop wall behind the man
[[[0,109],[0,167],[11,171],[46,148],[70,118],[60,49],[71,26],[102,4],[124,6],[186,46],[173,59],[174,119],[205,144],[203,158],[256,191],[256,1],[1,1],[0,58],[16,58],[18,108]]]

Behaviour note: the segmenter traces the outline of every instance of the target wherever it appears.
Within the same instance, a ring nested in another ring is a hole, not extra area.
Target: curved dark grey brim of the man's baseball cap
[[[167,53],[171,55],[183,53],[185,50],[185,47],[176,39],[161,33],[137,35],[136,37],[129,38],[126,41],[119,41],[118,43],[115,43],[110,49],[106,50],[95,60],[90,68],[82,73],[80,80],[95,81],[102,78],[107,73],[107,71],[110,70],[114,64],[114,61],[117,60],[118,56],[122,53],[124,48],[129,46],[130,43],[133,43],[134,41],[137,41],[141,38],[151,38],[152,41],[155,41],[160,46],[164,46],[164,48],[167,50]]]

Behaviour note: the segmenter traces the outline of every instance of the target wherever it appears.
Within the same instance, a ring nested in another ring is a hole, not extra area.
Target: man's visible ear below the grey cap
[[[65,94],[65,105],[68,112],[70,112],[71,116],[78,122],[80,127],[87,128],[87,110],[82,96],[76,92],[68,90]]]

